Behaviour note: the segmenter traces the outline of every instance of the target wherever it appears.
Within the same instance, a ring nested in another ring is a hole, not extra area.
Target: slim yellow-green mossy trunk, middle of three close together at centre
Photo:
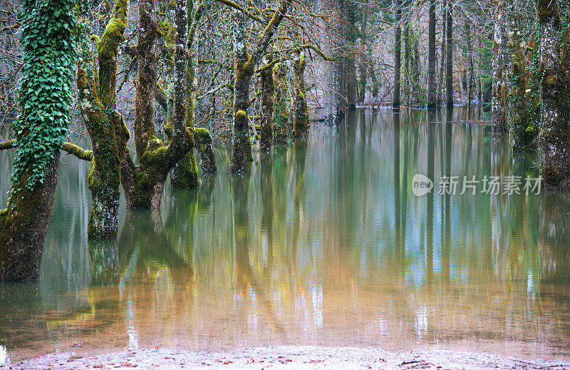
[[[287,102],[289,88],[285,63],[277,63],[273,68],[273,74],[275,81],[274,141],[284,144],[287,142],[287,127],[289,125],[289,104]]]

